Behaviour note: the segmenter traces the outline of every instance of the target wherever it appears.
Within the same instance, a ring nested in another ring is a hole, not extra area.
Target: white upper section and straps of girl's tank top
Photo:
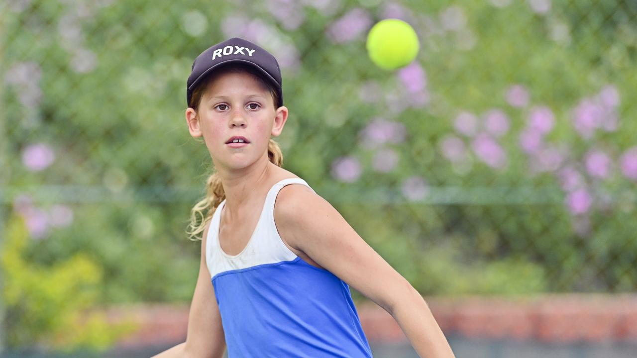
[[[225,199],[219,204],[210,220],[206,237],[206,264],[211,278],[225,271],[296,259],[297,255],[290,251],[281,240],[274,218],[276,196],[282,187],[289,184],[302,184],[311,189],[310,185],[301,178],[287,178],[275,183],[266,195],[254,233],[243,251],[237,255],[226,254],[219,244],[219,223]]]

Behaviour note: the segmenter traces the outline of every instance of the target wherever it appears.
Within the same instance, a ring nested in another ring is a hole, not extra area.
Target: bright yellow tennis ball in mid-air
[[[377,22],[367,34],[369,59],[382,69],[397,69],[416,58],[420,43],[410,24],[397,18]]]

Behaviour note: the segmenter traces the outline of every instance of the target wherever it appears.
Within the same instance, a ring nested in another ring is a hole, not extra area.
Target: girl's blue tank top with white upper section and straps
[[[206,264],[228,357],[372,357],[347,283],[294,254],[276,230],[276,196],[292,183],[311,189],[301,178],[275,183],[237,255],[226,254],[218,240],[225,200],[210,222]]]

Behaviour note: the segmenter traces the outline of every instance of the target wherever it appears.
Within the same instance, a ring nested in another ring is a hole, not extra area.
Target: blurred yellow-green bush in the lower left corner
[[[108,324],[103,313],[89,312],[99,295],[102,272],[85,254],[52,266],[24,260],[29,244],[22,218],[9,218],[0,269],[4,273],[7,344],[27,347],[34,342],[70,351],[104,350],[135,327],[131,322]]]

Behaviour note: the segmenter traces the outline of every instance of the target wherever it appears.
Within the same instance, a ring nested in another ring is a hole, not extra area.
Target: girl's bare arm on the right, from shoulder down
[[[329,202],[304,185],[286,185],[276,198],[275,222],[290,246],[389,312],[420,357],[455,358],[419,292]]]

